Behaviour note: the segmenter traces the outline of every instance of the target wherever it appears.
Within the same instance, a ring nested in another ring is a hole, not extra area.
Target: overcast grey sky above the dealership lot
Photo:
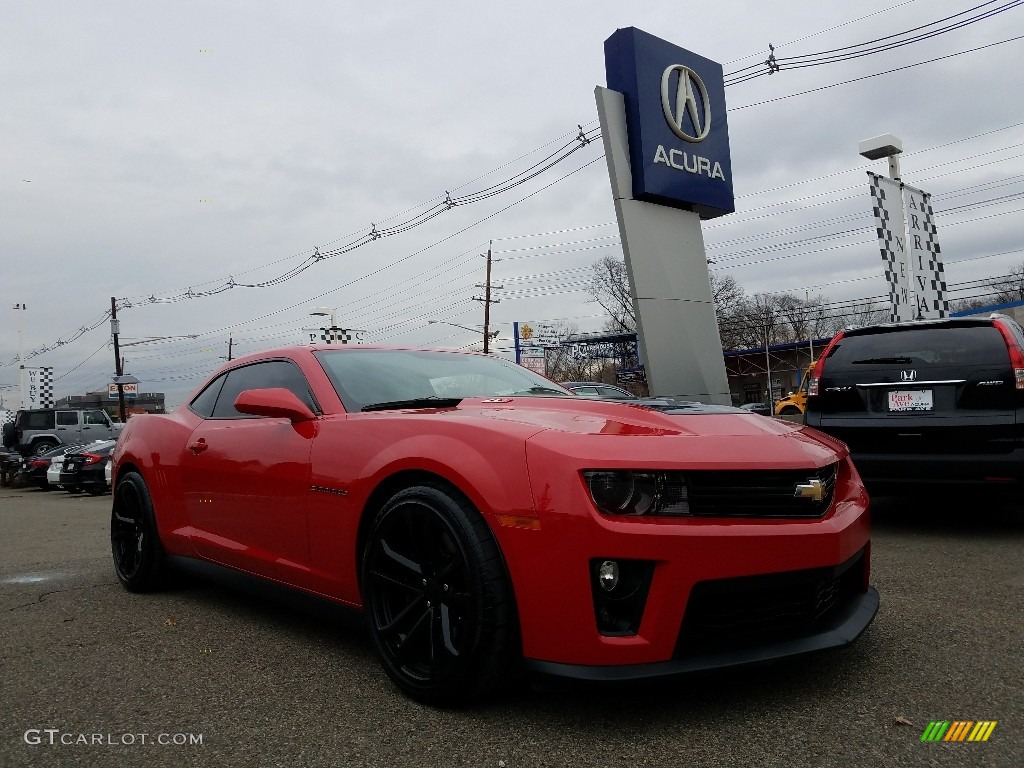
[[[57,396],[105,388],[112,296],[131,304],[119,310],[126,370],[168,404],[221,362],[228,338],[237,355],[297,343],[319,306],[369,341],[466,346],[476,337],[428,321],[482,323],[471,297],[490,241],[499,348],[514,321],[598,330],[588,270],[622,253],[600,141],[273,287],[197,295],[286,275],[314,249],[515,176],[579,125],[596,131],[603,42],[618,28],[728,73],[763,61],[769,43],[780,57],[831,50],[976,5],[5,3],[0,395],[17,407],[19,324],[26,365],[52,366]],[[883,133],[903,140],[903,180],[934,195],[951,287],[1024,261],[1022,35],[1024,7],[1011,7],[892,51],[728,87],[736,213],[705,224],[714,268],[748,293],[885,294],[865,171],[886,168],[857,155]]]

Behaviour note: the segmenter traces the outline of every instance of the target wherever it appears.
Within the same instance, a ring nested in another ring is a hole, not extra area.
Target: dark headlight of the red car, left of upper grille
[[[679,473],[588,470],[594,505],[606,515],[689,514],[686,481]]]

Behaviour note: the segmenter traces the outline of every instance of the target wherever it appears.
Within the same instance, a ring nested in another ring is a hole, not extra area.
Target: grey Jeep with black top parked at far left
[[[116,438],[123,428],[102,409],[33,409],[4,425],[3,441],[23,455],[39,455],[59,444]]]

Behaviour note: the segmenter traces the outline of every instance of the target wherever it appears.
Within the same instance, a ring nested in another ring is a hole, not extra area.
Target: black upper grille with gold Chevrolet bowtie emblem
[[[831,506],[837,465],[804,470],[687,472],[689,513],[703,517],[821,517]],[[816,481],[816,482],[815,482]],[[812,498],[820,488],[820,499]],[[812,496],[797,495],[804,486]]]

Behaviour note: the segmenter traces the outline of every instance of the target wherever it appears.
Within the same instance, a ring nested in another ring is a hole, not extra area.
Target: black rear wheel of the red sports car
[[[164,549],[157,536],[145,480],[128,472],[118,481],[111,511],[114,571],[129,592],[152,592],[164,582]]]

